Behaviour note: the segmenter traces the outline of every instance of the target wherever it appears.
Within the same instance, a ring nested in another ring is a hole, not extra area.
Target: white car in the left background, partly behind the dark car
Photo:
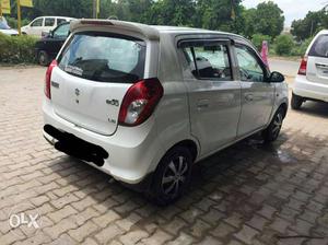
[[[65,16],[40,16],[36,18],[28,25],[22,27],[22,33],[26,35],[34,35],[42,37],[43,33],[49,33],[55,30],[57,25],[75,20],[73,18]]]

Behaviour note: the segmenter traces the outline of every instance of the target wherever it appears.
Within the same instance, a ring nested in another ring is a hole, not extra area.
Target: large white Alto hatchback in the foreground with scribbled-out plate
[[[242,36],[114,20],[71,32],[46,73],[44,136],[156,203],[184,192],[194,163],[278,138],[288,85]]]

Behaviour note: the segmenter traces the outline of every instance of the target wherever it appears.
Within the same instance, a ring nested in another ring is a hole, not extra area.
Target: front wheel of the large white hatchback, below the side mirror
[[[269,143],[278,139],[284,116],[285,110],[282,107],[280,107],[274,114],[268,128],[262,132],[265,142]]]

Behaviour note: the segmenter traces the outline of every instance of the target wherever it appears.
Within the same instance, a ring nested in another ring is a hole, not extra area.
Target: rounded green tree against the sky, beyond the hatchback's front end
[[[283,30],[283,11],[272,1],[262,2],[256,9],[246,10],[244,13],[244,32],[247,37],[254,34],[278,36]]]

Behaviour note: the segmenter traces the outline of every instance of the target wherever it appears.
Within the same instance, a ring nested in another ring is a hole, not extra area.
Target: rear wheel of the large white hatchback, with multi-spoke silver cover
[[[157,206],[167,206],[176,201],[190,184],[191,166],[192,155],[187,148],[176,147],[169,150],[153,175],[147,192],[148,198]]]

